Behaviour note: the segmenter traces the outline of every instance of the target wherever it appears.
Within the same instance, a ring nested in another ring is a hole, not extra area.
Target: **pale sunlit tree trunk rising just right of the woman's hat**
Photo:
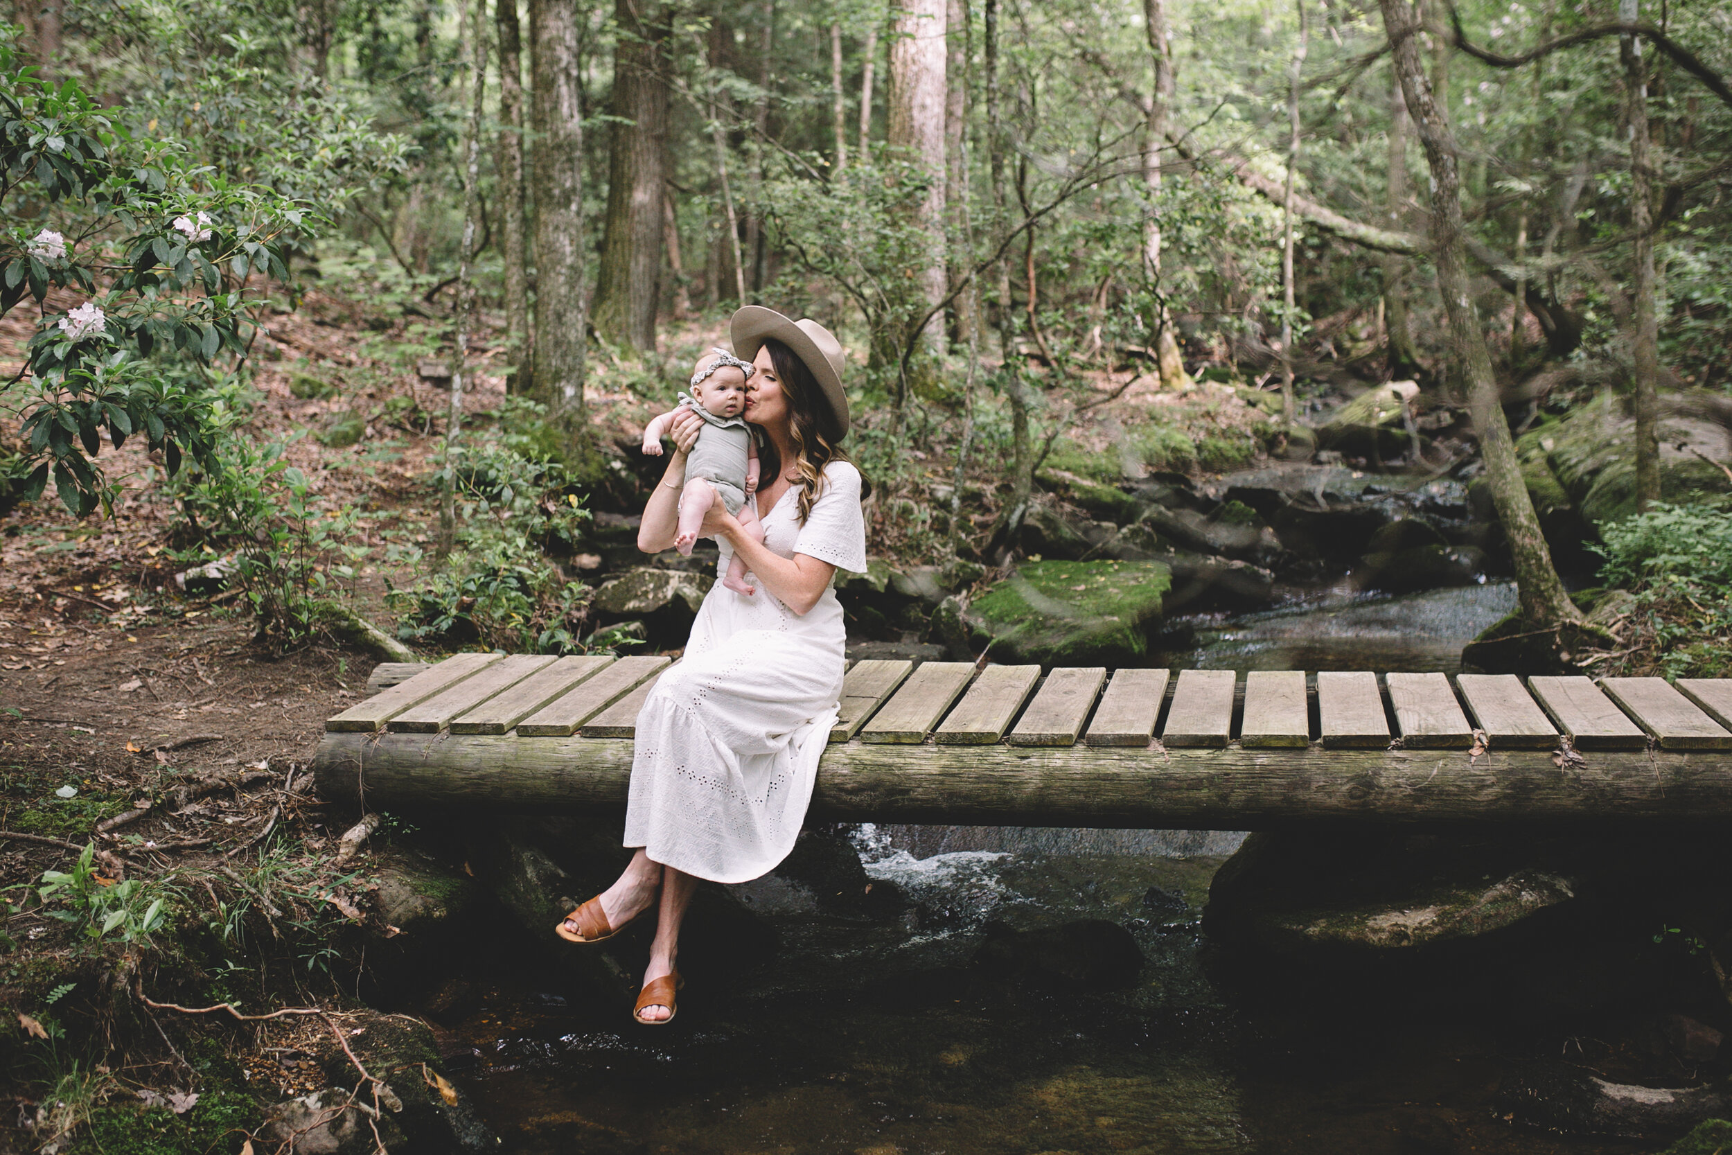
[[[944,270],[944,106],[947,0],[895,0],[895,40],[890,45],[889,144],[899,159],[927,177],[927,196],[914,210],[927,234],[927,253],[914,270],[925,303],[946,294]],[[925,310],[921,310],[925,312]],[[916,339],[908,334],[906,339]],[[920,331],[921,353],[944,352],[944,317],[934,315]]]

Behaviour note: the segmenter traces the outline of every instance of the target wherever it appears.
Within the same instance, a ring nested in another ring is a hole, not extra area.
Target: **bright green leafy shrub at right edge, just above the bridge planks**
[[[1732,674],[1732,511],[1651,506],[1600,526],[1600,577],[1633,592],[1644,649],[1666,677]]]

